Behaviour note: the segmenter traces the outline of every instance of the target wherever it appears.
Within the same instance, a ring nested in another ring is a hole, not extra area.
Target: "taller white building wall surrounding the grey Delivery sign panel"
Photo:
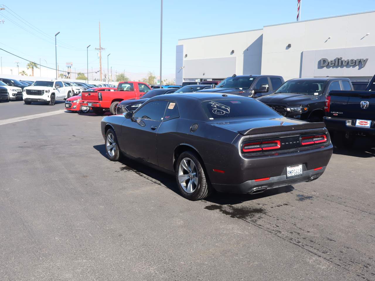
[[[345,58],[341,52],[344,48],[375,46],[375,12],[265,26],[263,31],[262,74],[281,75],[288,80],[300,77],[303,51],[332,49],[334,59],[336,56]],[[367,33],[370,34],[366,36]],[[291,48],[287,48],[289,43]],[[312,54],[304,52],[303,55]],[[348,51],[347,55],[354,58],[355,54]],[[361,54],[355,55],[355,58],[360,57]],[[375,67],[375,61],[372,62]],[[311,67],[317,66],[314,63]],[[371,60],[366,67],[371,67]],[[314,75],[315,68],[305,73]],[[340,73],[340,76],[345,75],[339,70],[324,74],[338,76]],[[355,71],[347,71],[346,75],[367,76]]]

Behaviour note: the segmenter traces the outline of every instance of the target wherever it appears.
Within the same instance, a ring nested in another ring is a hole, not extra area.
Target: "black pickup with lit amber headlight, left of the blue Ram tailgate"
[[[290,79],[275,93],[258,100],[285,117],[322,122],[326,96],[331,90],[351,91],[353,86],[348,78]]]

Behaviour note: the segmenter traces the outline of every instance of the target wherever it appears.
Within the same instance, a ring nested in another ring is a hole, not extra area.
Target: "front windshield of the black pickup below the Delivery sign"
[[[323,94],[327,81],[317,80],[289,80],[282,84],[275,94],[305,94],[311,96],[320,96]]]

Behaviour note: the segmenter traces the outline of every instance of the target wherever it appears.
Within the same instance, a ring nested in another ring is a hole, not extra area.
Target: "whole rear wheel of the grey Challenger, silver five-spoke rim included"
[[[201,200],[208,196],[210,187],[198,155],[190,151],[181,153],[177,159],[175,174],[183,197]]]

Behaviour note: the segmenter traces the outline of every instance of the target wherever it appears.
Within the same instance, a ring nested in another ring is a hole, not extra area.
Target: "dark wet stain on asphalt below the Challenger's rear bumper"
[[[250,208],[247,206],[236,207],[232,205],[208,205],[204,209],[207,210],[218,210],[225,215],[229,215],[231,218],[240,218],[242,220],[254,218],[258,214],[266,214],[264,208]]]

